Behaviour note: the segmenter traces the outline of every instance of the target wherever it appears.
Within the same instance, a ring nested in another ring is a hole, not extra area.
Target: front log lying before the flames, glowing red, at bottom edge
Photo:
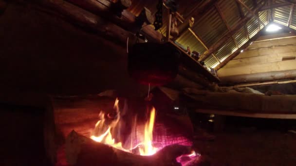
[[[182,145],[170,145],[151,156],[140,156],[108,145],[72,131],[66,139],[66,158],[75,166],[178,166],[178,156],[190,154],[191,148]]]

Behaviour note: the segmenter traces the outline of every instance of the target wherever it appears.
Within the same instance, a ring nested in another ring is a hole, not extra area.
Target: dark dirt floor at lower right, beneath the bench
[[[201,122],[201,121],[200,121]],[[296,121],[228,117],[214,140],[195,140],[194,147],[213,166],[295,166]],[[211,124],[203,125],[207,131]]]

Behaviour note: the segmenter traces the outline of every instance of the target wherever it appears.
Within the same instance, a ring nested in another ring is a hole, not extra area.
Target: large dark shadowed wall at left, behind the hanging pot
[[[0,15],[0,90],[140,94],[148,87],[127,71],[126,48],[30,5],[8,4]]]

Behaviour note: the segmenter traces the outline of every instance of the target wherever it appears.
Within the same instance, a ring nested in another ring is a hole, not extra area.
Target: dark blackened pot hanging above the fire
[[[129,52],[129,75],[141,84],[164,85],[177,76],[180,56],[170,43],[136,43]]]

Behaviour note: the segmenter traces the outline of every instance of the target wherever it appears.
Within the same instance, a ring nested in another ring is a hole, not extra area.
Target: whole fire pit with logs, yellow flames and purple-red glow
[[[126,99],[116,98],[114,103],[112,98],[92,96],[53,101],[60,133],[56,166],[190,165],[200,156],[191,149],[190,139],[176,132],[186,127],[168,126],[176,120],[147,102],[135,102],[144,109],[135,111],[141,108],[128,105]]]

